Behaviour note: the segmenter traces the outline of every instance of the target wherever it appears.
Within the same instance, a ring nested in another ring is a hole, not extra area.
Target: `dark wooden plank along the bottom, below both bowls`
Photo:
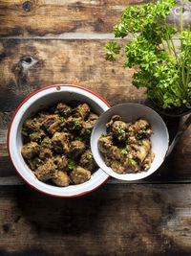
[[[190,197],[189,184],[105,184],[66,199],[4,187],[0,254],[190,255]]]

